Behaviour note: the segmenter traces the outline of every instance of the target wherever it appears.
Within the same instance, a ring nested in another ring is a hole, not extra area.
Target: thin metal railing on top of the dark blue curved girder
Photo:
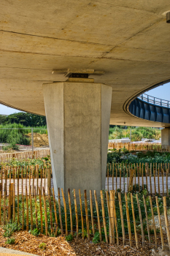
[[[139,99],[142,99],[144,102],[149,102],[154,105],[163,106],[166,108],[170,108],[170,101],[166,99],[159,99],[156,97],[152,97],[148,94],[141,94],[138,96]]]

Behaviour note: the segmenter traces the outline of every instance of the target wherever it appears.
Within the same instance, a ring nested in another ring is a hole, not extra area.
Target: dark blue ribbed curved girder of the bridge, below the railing
[[[154,105],[136,98],[131,102],[128,110],[138,118],[170,124],[170,108]]]

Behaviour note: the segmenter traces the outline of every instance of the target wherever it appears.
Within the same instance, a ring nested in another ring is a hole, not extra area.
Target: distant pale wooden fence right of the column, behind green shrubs
[[[109,143],[109,149],[121,149],[126,148],[128,151],[170,151],[170,147],[167,145],[161,145],[161,143]]]

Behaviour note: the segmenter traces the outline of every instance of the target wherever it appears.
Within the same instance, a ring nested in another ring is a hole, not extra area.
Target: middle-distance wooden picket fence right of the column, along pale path
[[[150,195],[169,196],[169,163],[107,164],[107,190],[141,192],[147,189]]]

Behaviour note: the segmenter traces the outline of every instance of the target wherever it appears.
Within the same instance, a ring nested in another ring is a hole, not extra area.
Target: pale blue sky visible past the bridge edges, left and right
[[[170,101],[170,83],[166,83],[163,86],[158,86],[155,89],[147,91],[146,94],[150,96],[157,97],[159,99],[166,99]],[[9,108],[0,104],[0,114],[10,115],[12,113],[21,112],[15,108]]]

